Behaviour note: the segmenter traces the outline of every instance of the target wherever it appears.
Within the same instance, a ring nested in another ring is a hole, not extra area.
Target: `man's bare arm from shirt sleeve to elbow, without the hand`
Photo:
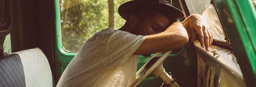
[[[182,48],[188,42],[186,29],[180,22],[170,25],[164,32],[147,36],[133,55],[146,55]]]

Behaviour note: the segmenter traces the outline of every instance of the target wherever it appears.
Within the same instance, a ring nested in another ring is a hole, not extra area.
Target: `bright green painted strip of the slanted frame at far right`
[[[240,37],[250,60],[252,70],[256,74],[256,12],[254,5],[249,0],[236,0],[244,29],[239,29]],[[238,20],[237,20],[238,21]],[[238,21],[239,22],[239,21]],[[238,24],[238,23],[237,23]]]

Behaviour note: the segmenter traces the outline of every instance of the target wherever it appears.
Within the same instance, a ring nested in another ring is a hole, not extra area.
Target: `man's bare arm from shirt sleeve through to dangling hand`
[[[133,55],[146,55],[182,48],[191,38],[195,40],[196,32],[199,35],[201,46],[209,51],[212,44],[212,34],[201,15],[191,15],[182,23],[170,25],[164,32],[147,36]]]

